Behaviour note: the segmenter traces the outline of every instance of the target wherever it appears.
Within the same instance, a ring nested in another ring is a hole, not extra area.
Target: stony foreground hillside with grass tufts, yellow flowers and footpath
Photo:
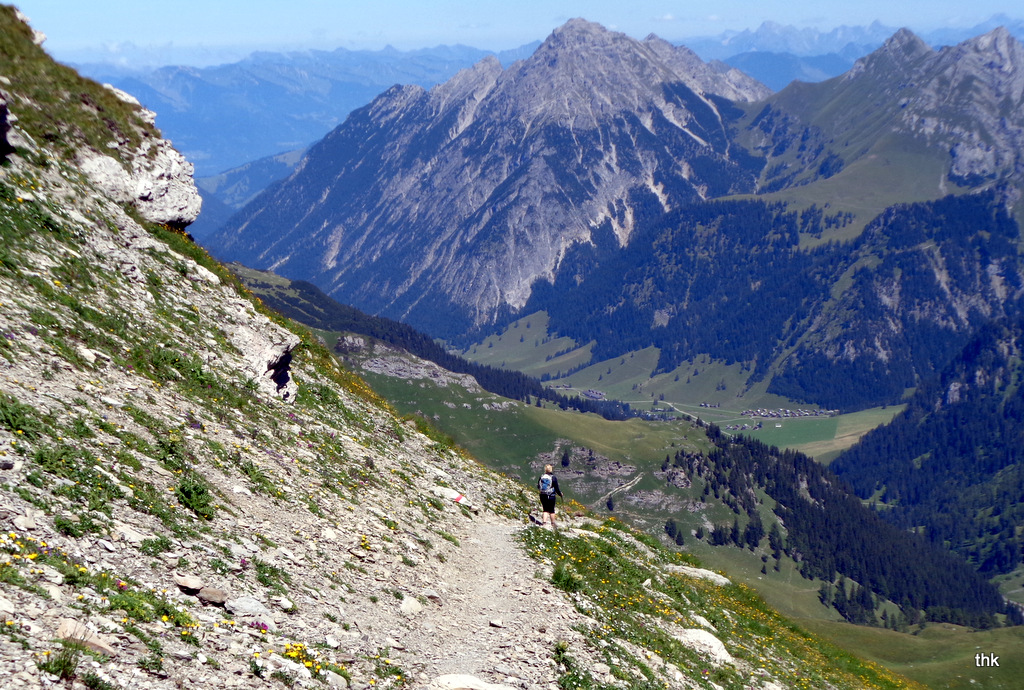
[[[0,36],[5,687],[908,686],[613,521],[524,529],[174,227],[151,114]]]

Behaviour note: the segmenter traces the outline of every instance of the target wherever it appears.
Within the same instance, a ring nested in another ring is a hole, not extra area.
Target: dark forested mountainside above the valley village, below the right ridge
[[[678,376],[708,354],[745,372],[732,397],[767,379],[770,393],[851,411],[898,402],[975,329],[1019,311],[1020,233],[1001,198],[893,207],[852,242],[802,248],[847,218],[760,201],[690,206],[645,223],[623,251],[570,255],[524,312],[596,339],[596,361],[654,345],[656,371]]]

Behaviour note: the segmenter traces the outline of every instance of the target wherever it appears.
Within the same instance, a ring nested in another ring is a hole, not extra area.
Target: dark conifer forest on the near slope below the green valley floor
[[[728,437],[714,426],[708,432],[716,445],[712,452],[679,454],[674,463],[701,477],[706,495],[714,492],[736,513],[731,524],[707,534],[712,544],[754,549],[767,537],[776,561],[785,553],[805,577],[824,580],[827,603],[853,622],[877,623],[881,600],[897,604],[907,621],[990,628],[994,614],[1006,612],[1011,622],[1021,622],[1019,610],[1007,609],[995,587],[970,564],[883,520],[829,469],[794,450]],[[778,524],[762,523],[756,488],[774,502],[784,537]],[[855,583],[844,590],[853,598],[839,594],[846,580]]]

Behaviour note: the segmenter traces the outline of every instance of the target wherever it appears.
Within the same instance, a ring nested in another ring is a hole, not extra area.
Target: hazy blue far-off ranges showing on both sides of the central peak
[[[933,46],[949,45],[998,26],[1024,37],[1021,21],[995,16],[978,27],[935,31],[922,38]],[[846,72],[895,32],[896,28],[878,23],[816,31],[768,21],[755,31],[673,42],[706,60],[724,60],[779,90],[795,79],[821,81]],[[157,112],[158,126],[195,163],[204,196],[237,209],[237,199],[211,190],[202,178],[305,148],[394,84],[429,88],[487,54],[509,66],[528,57],[539,44],[498,53],[459,45],[411,51],[259,52],[230,63],[213,66],[207,60],[206,67],[146,67],[153,64],[153,55],[134,54],[130,46],[121,46],[118,59],[111,54],[109,62],[85,53],[69,53],[66,58],[83,74],[134,94]],[[267,177],[250,168],[237,176],[241,185],[258,190],[285,174]],[[197,230],[203,232],[221,221],[203,217]]]

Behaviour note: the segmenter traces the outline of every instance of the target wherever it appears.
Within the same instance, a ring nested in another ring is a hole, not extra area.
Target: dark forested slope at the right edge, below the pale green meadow
[[[1024,324],[981,330],[906,411],[833,467],[886,519],[918,527],[982,572],[1021,565]]]

